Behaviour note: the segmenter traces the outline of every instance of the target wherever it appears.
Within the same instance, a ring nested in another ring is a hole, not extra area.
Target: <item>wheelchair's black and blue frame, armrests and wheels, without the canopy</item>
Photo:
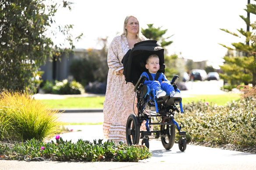
[[[174,76],[171,84],[174,90],[180,92],[175,84],[179,77]],[[180,104],[181,113],[183,113],[182,108],[182,98],[181,97],[170,97],[169,95],[156,98],[155,90],[149,89],[148,86],[143,85],[146,80],[146,76],[139,78],[138,83],[135,85],[134,91],[137,95],[137,109],[138,115],[130,114],[126,123],[126,140],[128,145],[138,144],[139,139],[142,139],[142,145],[149,148],[149,139],[161,138],[161,142],[165,149],[169,150],[174,145],[175,139],[175,127],[178,130],[178,134],[181,135],[179,139],[178,146],[180,151],[185,151],[186,149],[186,132],[181,131],[184,125],[178,123],[174,120],[174,113],[180,112],[177,105]],[[149,109],[149,111],[147,111]],[[155,112],[152,111],[155,110]],[[152,122],[152,118],[156,118],[158,122]],[[146,131],[140,131],[140,126],[142,122],[146,121]],[[160,130],[150,130],[151,126],[160,125]]]

